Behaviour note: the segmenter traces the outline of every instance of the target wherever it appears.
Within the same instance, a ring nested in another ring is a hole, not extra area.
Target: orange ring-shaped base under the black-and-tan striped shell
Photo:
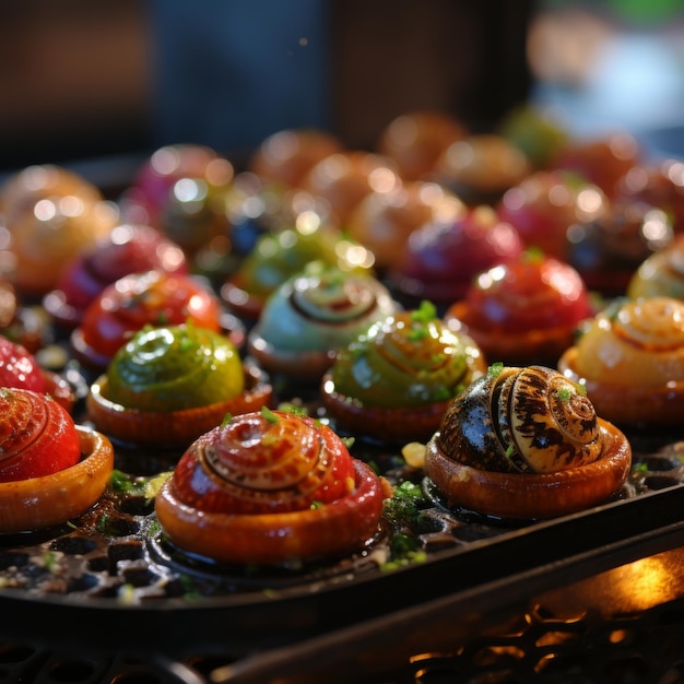
[[[599,418],[605,447],[588,464],[545,473],[505,473],[465,465],[427,444],[425,472],[449,506],[514,519],[553,518],[604,502],[627,477],[632,447],[615,426]]]

